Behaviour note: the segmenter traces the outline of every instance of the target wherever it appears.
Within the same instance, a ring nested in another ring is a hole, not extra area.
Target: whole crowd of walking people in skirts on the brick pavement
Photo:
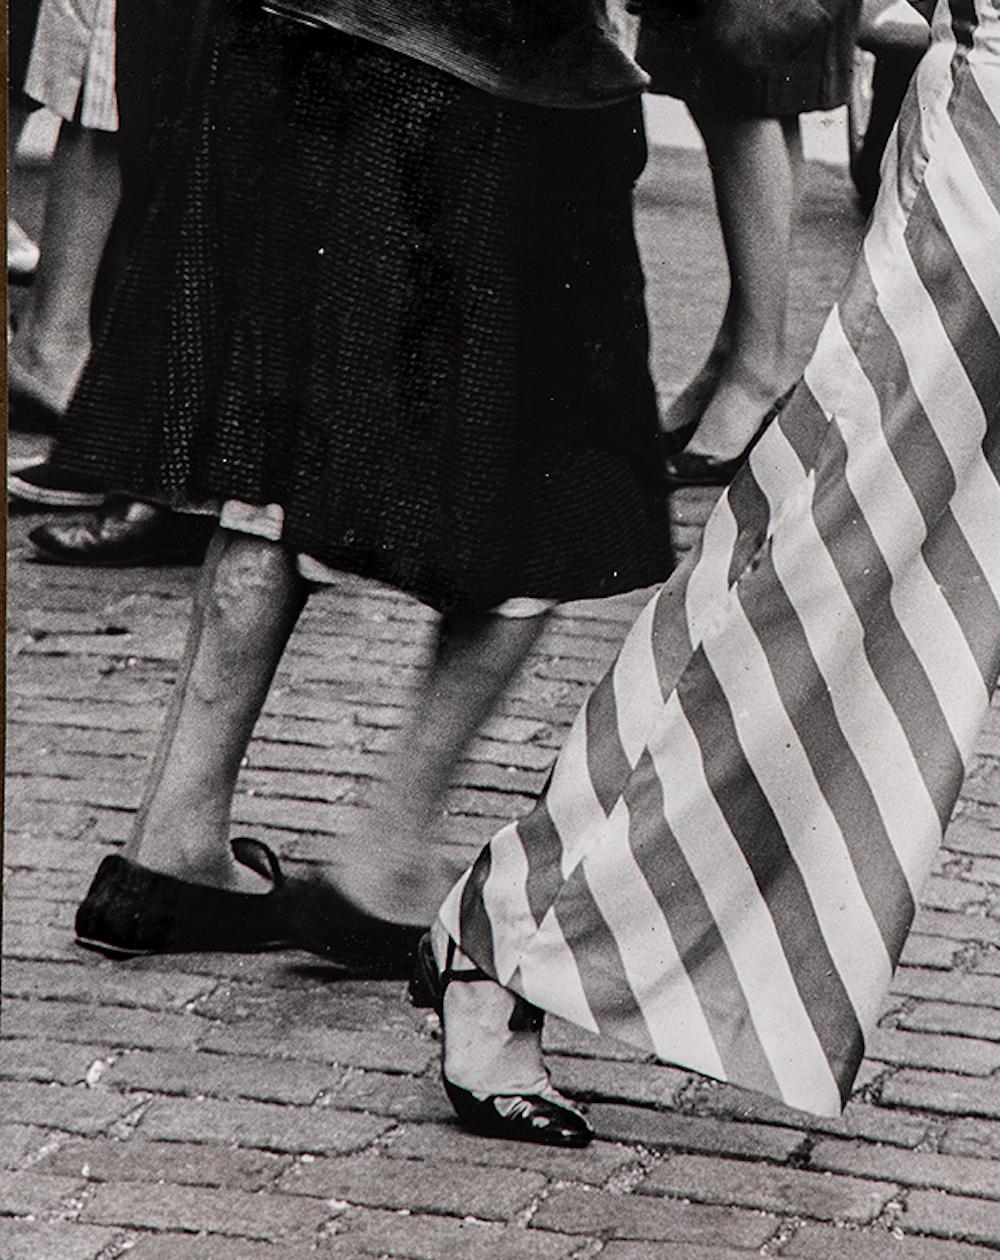
[[[10,489],[99,507],[33,530],[40,558],[202,566],[79,942],[412,976],[486,1134],[591,1138],[545,1012],[835,1113],[1000,670],[997,0],[940,0],[798,381],[798,116],[846,98],[858,0],[782,0],[766,33],[753,4],[637,0],[635,57],[603,0],[29,9],[11,91],[64,122],[11,408],[58,437]],[[632,220],[647,87],[704,137],[730,277],[662,417]],[[47,377],[53,295],[73,319]],[[674,570],[668,496],[705,484],[728,489]],[[438,626],[365,862],[305,882],[230,839],[230,806],[335,572]],[[661,582],[535,810],[450,890],[426,839],[552,609]]]

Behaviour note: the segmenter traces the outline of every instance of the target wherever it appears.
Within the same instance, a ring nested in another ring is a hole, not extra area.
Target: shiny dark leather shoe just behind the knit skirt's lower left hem
[[[52,564],[200,564],[215,525],[214,517],[116,499],[93,517],[49,520],[28,538],[38,557]]]

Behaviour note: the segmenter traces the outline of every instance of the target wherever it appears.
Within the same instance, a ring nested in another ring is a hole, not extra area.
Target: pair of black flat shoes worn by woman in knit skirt
[[[77,910],[77,944],[108,958],[302,949],[365,975],[412,974],[422,927],[366,915],[324,879],[286,876],[259,840],[239,837],[232,849],[268,892],[213,888],[110,854]]]

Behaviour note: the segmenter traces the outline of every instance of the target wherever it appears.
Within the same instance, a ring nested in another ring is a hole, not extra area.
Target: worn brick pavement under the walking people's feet
[[[660,151],[642,243],[666,393],[722,301],[696,155]],[[792,329],[805,358],[858,224],[810,173]],[[14,435],[13,454],[25,440]],[[690,542],[710,504],[679,495]],[[112,963],[74,903],[135,808],[189,570],[31,564],[8,538],[3,1260],[985,1260],[1000,1249],[1000,713],[991,717],[843,1119],[816,1120],[553,1024],[586,1152],[462,1134],[437,1031],[398,983],[305,955]],[[438,838],[458,867],[529,808],[641,604],[563,610],[461,766]],[[353,581],[316,597],[253,742],[237,829],[336,861],[406,711],[428,629]]]

